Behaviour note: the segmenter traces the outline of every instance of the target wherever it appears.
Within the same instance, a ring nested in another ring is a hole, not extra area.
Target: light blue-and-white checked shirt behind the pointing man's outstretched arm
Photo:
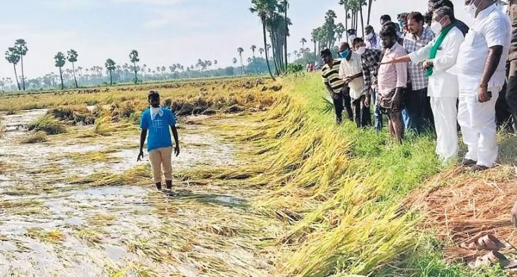
[[[422,35],[420,37],[408,33],[406,37],[404,37],[404,49],[406,49],[408,53],[415,52],[420,48],[428,45],[429,42],[434,38],[435,35],[428,29],[422,30]],[[424,68],[422,68],[421,62],[418,64],[410,62],[408,64],[408,73],[412,90],[421,90],[422,88],[427,88],[428,78],[426,77]]]

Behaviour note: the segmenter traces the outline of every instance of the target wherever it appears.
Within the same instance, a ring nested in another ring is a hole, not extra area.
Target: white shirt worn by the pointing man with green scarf
[[[409,54],[412,62],[419,63],[429,59],[438,35],[427,46]],[[429,97],[458,97],[457,76],[451,73],[456,64],[460,46],[464,41],[460,29],[453,27],[448,31],[433,59],[433,74],[429,77],[427,95]]]

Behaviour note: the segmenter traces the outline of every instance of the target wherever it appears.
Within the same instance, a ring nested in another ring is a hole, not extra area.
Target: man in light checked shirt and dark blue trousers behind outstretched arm
[[[424,28],[424,16],[420,12],[410,12],[407,17],[410,33],[404,37],[403,47],[408,53],[424,48],[435,38],[433,32]],[[422,63],[408,64],[411,87],[406,93],[406,109],[402,111],[404,127],[417,133],[426,131],[433,122],[430,108],[430,97],[427,96],[428,77]]]

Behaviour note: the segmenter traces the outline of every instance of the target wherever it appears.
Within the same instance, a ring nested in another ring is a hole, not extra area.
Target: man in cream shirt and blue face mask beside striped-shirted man
[[[366,95],[364,91],[361,54],[352,50],[346,42],[339,45],[338,51],[341,57],[339,77],[343,79],[350,92],[357,128],[370,126],[370,95]]]

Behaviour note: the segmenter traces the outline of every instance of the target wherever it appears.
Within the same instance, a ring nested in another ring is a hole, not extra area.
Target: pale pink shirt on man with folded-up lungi
[[[390,61],[407,55],[408,52],[398,43],[386,49],[382,61]],[[408,83],[408,63],[383,64],[379,66],[379,93],[386,95],[395,88],[405,88]]]

